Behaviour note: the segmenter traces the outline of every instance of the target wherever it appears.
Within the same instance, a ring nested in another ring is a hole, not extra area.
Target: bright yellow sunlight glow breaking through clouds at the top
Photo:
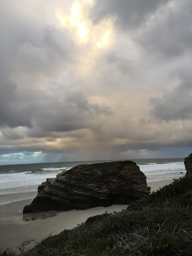
[[[113,22],[104,19],[93,25],[88,18],[92,6],[92,0],[75,1],[72,3],[70,15],[66,15],[62,8],[56,8],[56,17],[60,26],[68,28],[78,36],[79,43],[89,42],[93,48],[102,48],[110,42]]]

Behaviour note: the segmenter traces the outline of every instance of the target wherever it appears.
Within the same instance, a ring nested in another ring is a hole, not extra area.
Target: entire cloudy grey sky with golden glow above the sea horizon
[[[192,152],[191,0],[0,0],[0,164]]]

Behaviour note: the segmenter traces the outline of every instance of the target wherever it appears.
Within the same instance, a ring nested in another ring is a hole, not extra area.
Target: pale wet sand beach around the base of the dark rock
[[[170,184],[173,180],[147,182],[151,192]],[[87,210],[71,210],[63,212],[41,212],[38,214],[22,214],[25,205],[32,200],[23,200],[0,206],[0,247],[29,248],[50,235],[59,234],[64,229],[71,229],[85,222],[90,216],[105,212],[119,212],[128,205],[112,205]],[[33,220],[32,220],[33,218]]]

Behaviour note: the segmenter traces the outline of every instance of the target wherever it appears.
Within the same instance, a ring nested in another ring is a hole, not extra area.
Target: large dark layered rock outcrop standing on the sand
[[[148,194],[146,176],[133,161],[82,164],[43,182],[23,212],[130,204]]]

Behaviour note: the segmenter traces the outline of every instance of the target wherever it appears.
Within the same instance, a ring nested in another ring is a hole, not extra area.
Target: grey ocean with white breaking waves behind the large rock
[[[147,182],[177,179],[186,174],[184,158],[135,159],[133,161],[144,172]],[[46,181],[46,178],[55,178],[56,174],[79,164],[96,162],[112,162],[112,160],[1,165],[0,205],[33,199],[37,194],[38,186]]]

